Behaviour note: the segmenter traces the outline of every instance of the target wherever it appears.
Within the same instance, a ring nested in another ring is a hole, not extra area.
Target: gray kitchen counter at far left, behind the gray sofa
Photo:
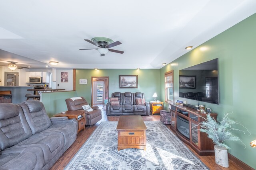
[[[12,103],[18,104],[24,102],[27,98],[25,95],[29,93],[28,89],[33,89],[33,86],[0,86],[0,91],[12,91]]]

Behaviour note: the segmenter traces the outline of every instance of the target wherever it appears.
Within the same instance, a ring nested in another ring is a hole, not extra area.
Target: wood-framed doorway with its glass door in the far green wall
[[[108,77],[92,77],[92,106],[108,98]]]

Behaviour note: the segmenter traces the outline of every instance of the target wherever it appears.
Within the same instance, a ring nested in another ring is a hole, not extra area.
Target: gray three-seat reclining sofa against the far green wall
[[[145,102],[144,105],[136,103],[136,99],[144,99],[144,93],[136,92],[114,92],[112,98],[118,98],[119,105],[111,105],[110,102],[106,106],[106,114],[109,116],[116,115],[149,115],[149,103]]]

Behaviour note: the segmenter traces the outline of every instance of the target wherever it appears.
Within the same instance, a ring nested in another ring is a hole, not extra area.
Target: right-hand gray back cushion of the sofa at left
[[[52,125],[42,102],[27,100],[19,105],[22,107],[33,135],[44,131]]]

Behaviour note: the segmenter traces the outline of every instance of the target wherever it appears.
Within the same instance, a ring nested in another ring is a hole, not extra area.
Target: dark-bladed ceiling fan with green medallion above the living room
[[[114,52],[114,53],[120,53],[120,54],[124,53],[124,51],[109,49],[111,47],[115,47],[116,45],[122,44],[120,43],[120,41],[114,42],[112,39],[105,38],[105,37],[94,37],[92,38],[92,40],[89,40],[89,39],[84,39],[84,40],[87,41],[88,43],[91,43],[97,46],[98,48],[95,48],[95,49],[98,50],[98,52],[100,53],[100,56],[105,56],[105,54],[108,53],[108,51]],[[80,50],[93,50],[93,49],[80,49]]]

